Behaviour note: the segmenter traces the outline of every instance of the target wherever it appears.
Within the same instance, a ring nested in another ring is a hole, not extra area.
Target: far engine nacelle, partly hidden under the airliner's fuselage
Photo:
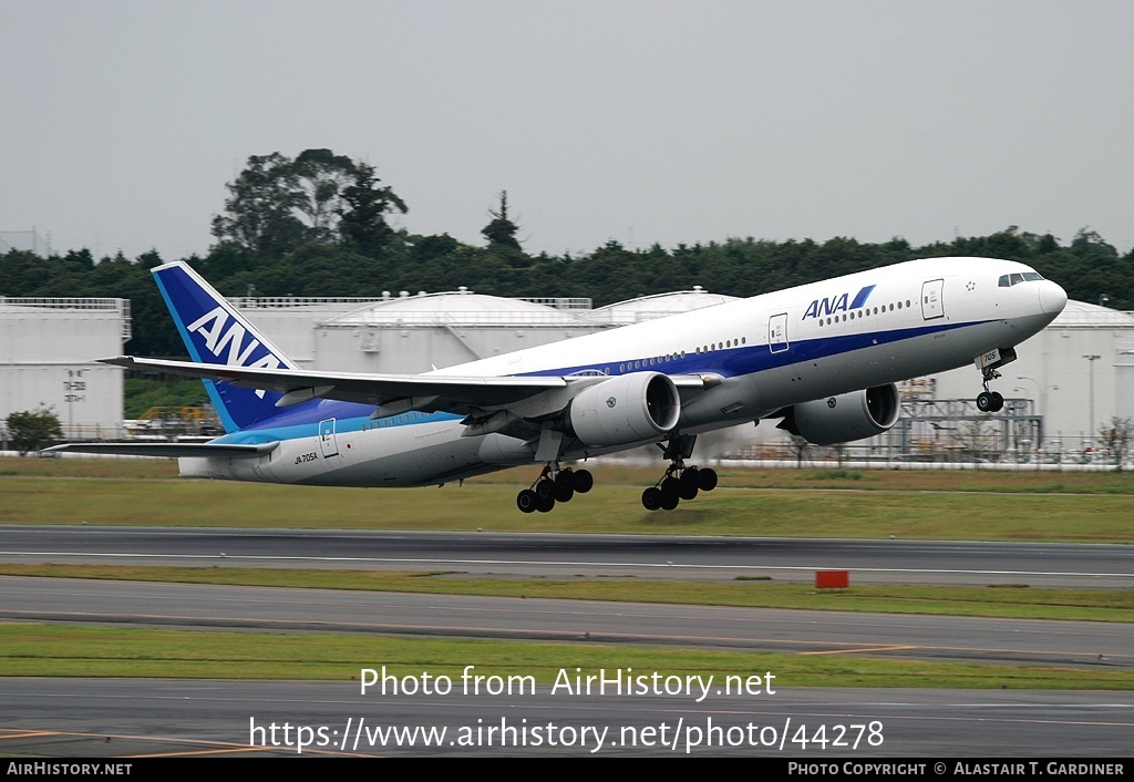
[[[814,445],[881,435],[898,422],[902,404],[892,382],[795,405],[795,429]]]

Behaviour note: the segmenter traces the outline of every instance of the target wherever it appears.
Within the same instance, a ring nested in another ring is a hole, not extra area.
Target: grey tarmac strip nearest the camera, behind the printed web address
[[[896,757],[925,758],[928,775],[960,757],[1128,764],[1134,703],[1125,692],[790,687],[701,703],[549,687],[471,696],[459,679],[447,696],[408,698],[362,695],[357,682],[3,679],[0,725],[0,752],[41,757],[294,757],[308,729],[304,756],[786,756],[840,771]]]

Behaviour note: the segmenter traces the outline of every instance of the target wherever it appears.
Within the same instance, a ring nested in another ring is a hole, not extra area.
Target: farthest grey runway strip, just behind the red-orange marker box
[[[818,538],[3,527],[0,561],[1134,588],[1129,546]]]

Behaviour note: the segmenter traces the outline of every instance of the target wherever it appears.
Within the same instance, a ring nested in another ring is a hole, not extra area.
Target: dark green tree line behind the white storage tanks
[[[330,150],[253,155],[228,184],[213,218],[215,243],[186,258],[229,296],[380,296],[383,291],[452,291],[500,296],[589,296],[595,305],[688,289],[752,296],[914,258],[982,255],[1018,260],[1063,285],[1072,298],[1134,310],[1134,250],[1120,254],[1098,233],[1069,242],[1010,226],[989,236],[913,246],[903,238],[871,244],[835,237],[772,242],[725,238],[704,244],[629,249],[610,241],[576,255],[528,253],[509,216],[507,193],[490,209],[477,244],[448,234],[420,235],[391,218],[409,207],[373,166]],[[0,255],[0,295],[129,298],[130,351],[183,355],[180,338],[149,270],[147,252],[95,259],[88,250],[42,258]]]

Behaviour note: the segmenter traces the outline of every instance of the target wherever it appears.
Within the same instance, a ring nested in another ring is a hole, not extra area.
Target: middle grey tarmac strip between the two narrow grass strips
[[[611,582],[611,590],[618,585]],[[1134,669],[1107,622],[0,577],[0,619],[395,633]]]

